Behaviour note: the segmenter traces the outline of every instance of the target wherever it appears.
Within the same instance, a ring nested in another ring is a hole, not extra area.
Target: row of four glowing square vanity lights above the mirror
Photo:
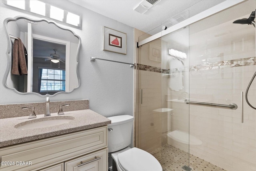
[[[74,14],[69,10],[61,9],[56,6],[41,2],[40,0],[4,0],[4,3],[26,10],[28,12],[33,12],[42,16],[52,18],[73,26],[81,26],[80,15]]]

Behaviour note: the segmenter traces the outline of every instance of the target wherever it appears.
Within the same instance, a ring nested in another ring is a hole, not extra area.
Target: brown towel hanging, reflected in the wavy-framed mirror
[[[12,50],[12,71],[14,75],[25,75],[28,74],[27,68],[28,58],[27,50],[20,40],[20,38],[14,40]]]

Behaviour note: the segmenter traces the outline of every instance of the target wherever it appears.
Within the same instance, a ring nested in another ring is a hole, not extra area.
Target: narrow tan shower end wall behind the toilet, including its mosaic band
[[[162,136],[161,40],[138,48],[136,72],[136,146],[152,153],[161,147]]]

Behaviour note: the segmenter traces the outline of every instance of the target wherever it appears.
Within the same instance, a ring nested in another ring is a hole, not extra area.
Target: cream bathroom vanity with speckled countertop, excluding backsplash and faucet
[[[52,113],[36,119],[1,119],[0,170],[107,171],[107,125],[111,121],[90,109],[68,111],[64,117],[71,121],[51,127],[44,126],[44,118],[47,122],[63,117]],[[20,127],[35,122],[42,126]]]

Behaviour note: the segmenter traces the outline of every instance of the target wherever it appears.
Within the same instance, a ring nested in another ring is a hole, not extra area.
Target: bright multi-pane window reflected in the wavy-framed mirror
[[[40,92],[65,91],[65,70],[39,68]]]

